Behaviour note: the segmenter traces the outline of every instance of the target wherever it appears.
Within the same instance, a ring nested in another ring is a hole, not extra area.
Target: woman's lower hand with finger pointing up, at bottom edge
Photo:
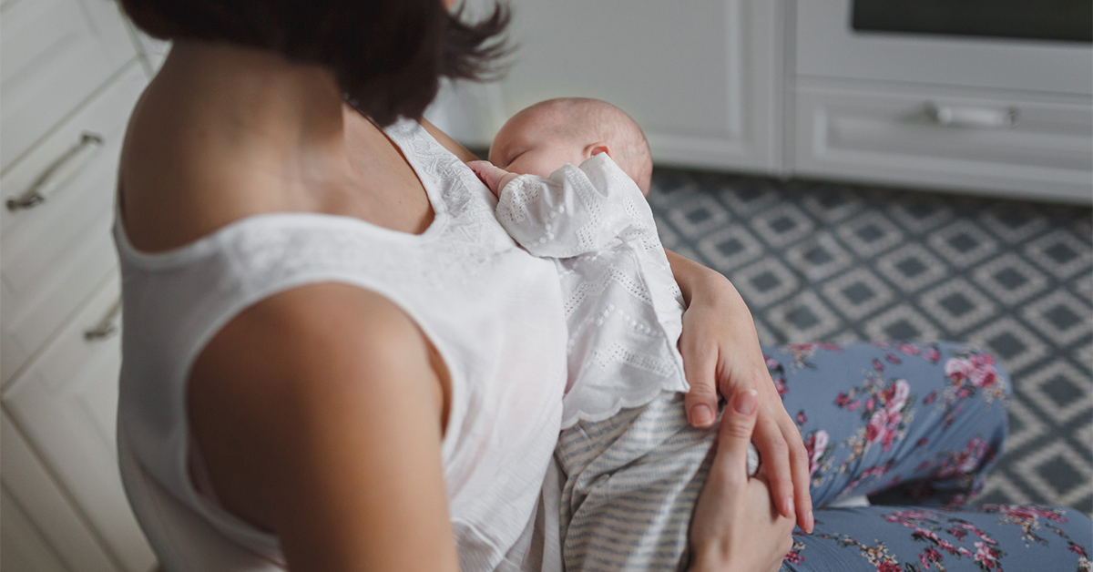
[[[774,572],[792,548],[794,521],[777,513],[761,478],[747,475],[759,409],[754,389],[731,394],[717,454],[691,521],[691,570]]]

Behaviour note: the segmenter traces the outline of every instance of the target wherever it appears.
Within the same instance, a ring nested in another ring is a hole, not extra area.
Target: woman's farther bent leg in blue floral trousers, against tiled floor
[[[809,451],[816,506],[897,485],[918,497],[901,503],[959,504],[1001,451],[1009,380],[974,347],[808,343],[764,354]]]

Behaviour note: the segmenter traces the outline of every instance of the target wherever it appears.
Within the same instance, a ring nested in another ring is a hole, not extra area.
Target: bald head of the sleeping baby
[[[607,153],[649,194],[653,155],[645,135],[622,109],[599,100],[560,97],[521,110],[497,131],[490,162],[510,173],[548,177],[598,153]]]

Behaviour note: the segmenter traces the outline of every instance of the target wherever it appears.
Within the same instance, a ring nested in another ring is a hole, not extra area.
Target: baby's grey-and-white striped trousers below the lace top
[[[714,429],[687,424],[682,394],[662,394],[562,432],[562,557],[568,571],[675,570],[713,459]]]

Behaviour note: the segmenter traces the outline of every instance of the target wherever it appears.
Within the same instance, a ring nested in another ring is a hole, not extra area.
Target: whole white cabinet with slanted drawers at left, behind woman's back
[[[0,16],[0,568],[149,572],[115,446],[109,231],[151,66],[111,0],[5,0]]]

